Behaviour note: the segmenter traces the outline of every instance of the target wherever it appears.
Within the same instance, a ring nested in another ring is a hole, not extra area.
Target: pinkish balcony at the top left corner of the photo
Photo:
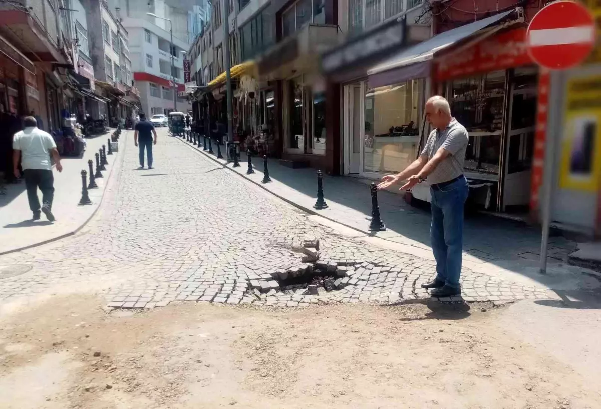
[[[0,32],[30,59],[67,62],[58,49],[58,11],[50,0],[0,2]]]

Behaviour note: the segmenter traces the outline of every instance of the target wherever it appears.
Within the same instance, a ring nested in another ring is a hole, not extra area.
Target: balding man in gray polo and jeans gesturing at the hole
[[[378,189],[401,180],[407,183],[400,190],[428,181],[432,196],[430,238],[437,275],[432,282],[421,286],[433,288],[433,297],[450,297],[461,293],[463,206],[469,189],[463,176],[463,162],[468,132],[451,116],[448,101],[439,95],[427,101],[426,119],[435,130],[430,133],[419,158],[399,174],[383,177]]]

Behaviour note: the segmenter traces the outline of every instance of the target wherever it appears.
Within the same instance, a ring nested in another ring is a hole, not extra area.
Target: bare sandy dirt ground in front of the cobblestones
[[[597,382],[483,306],[183,303],[71,295],[0,318],[0,408],[599,408]]]

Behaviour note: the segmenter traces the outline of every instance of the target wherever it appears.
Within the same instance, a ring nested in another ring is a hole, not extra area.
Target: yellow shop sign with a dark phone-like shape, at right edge
[[[573,77],[566,85],[560,186],[596,192],[601,186],[601,75]]]

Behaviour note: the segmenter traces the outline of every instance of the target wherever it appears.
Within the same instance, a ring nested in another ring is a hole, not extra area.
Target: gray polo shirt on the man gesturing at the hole
[[[444,130],[435,129],[430,132],[421,155],[427,156],[430,160],[439,148],[445,148],[451,154],[428,176],[429,184],[446,182],[463,174],[468,139],[468,131],[455,118],[451,119]]]

